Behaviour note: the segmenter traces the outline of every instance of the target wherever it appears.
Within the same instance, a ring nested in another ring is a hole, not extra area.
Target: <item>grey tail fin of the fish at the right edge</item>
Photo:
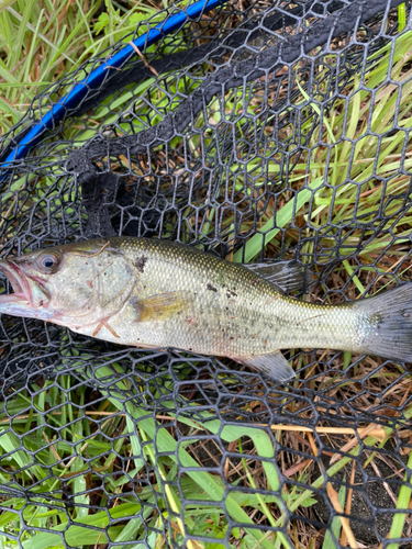
[[[412,282],[366,298],[356,309],[366,313],[365,354],[412,362]]]

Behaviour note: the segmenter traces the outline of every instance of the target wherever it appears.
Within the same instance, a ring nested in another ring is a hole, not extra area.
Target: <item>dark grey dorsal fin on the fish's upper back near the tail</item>
[[[312,272],[294,259],[245,265],[253,272],[276,284],[283,292],[304,292],[313,280]]]

